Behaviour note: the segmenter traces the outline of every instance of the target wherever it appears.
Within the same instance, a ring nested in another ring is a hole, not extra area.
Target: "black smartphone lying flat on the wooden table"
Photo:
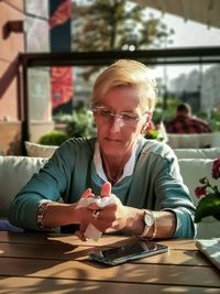
[[[91,252],[89,259],[109,265],[118,265],[128,261],[167,252],[168,247],[155,241],[136,240],[135,242],[102,251]]]

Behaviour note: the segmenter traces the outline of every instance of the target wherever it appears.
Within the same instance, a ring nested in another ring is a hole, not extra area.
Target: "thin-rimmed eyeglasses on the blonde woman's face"
[[[92,110],[95,115],[99,116],[106,122],[112,122],[114,118],[118,118],[118,120],[120,121],[120,127],[122,126],[134,127],[142,119],[138,115],[130,112],[121,112],[119,115],[116,115],[110,109],[103,106],[95,107]]]

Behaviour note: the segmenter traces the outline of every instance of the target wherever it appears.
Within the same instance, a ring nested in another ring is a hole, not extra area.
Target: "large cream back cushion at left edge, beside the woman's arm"
[[[7,217],[13,197],[46,161],[26,156],[0,156],[0,218]]]

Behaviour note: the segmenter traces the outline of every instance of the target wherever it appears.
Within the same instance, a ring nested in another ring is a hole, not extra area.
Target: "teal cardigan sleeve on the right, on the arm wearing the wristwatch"
[[[170,210],[176,216],[174,238],[194,238],[195,206],[180,175],[178,160],[166,144],[148,140],[141,150],[125,205]]]

